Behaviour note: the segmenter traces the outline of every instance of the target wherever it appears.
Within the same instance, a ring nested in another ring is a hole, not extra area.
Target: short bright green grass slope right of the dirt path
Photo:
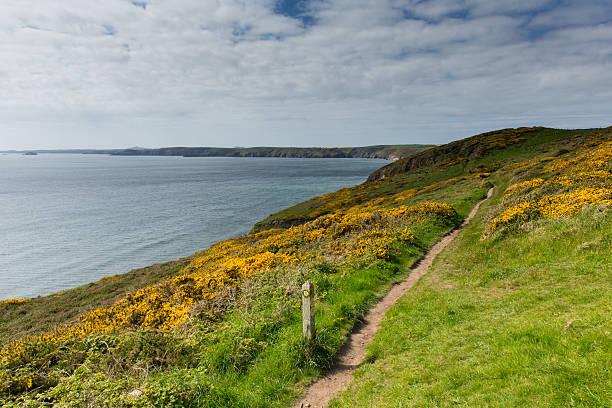
[[[502,192],[387,313],[331,408],[612,406],[612,215],[483,241]]]

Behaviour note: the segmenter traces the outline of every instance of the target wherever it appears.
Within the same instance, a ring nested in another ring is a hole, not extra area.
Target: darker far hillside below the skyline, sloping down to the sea
[[[431,186],[456,177],[478,174],[487,177],[505,163],[567,150],[571,148],[573,138],[589,138],[593,132],[547,128],[504,129],[438,146],[381,168],[370,176],[369,183],[315,197],[272,214],[257,223],[253,231],[301,224],[377,197]],[[452,184],[452,181],[448,184]]]

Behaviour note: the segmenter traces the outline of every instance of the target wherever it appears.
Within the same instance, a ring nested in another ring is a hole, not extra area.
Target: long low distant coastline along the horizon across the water
[[[285,157],[285,158],[367,158],[397,160],[435,145],[377,145],[364,147],[162,147],[159,149],[57,149],[5,150],[0,153],[108,154],[111,156],[180,157]]]

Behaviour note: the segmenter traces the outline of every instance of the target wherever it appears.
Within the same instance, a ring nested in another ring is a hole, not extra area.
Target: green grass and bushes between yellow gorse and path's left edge
[[[482,194],[479,191],[477,198]],[[76,369],[46,392],[22,395],[13,404],[286,406],[298,395],[296,384],[330,367],[355,322],[458,220],[428,220],[414,229],[420,237],[417,245],[365,267],[319,263],[311,269],[279,270],[245,280],[222,316],[214,315],[214,307],[203,307],[188,325],[174,332],[138,330],[65,341],[53,353],[52,370],[33,381],[53,385],[62,371],[71,370],[72,365]],[[307,279],[318,289],[319,315],[318,341],[309,345],[301,340],[298,295]],[[36,353],[31,358],[37,356],[45,357]],[[134,390],[144,394],[132,398],[129,393]],[[12,406],[8,401],[5,406]]]

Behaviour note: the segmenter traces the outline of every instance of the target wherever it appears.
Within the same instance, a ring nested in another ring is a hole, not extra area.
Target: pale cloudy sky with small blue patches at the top
[[[612,125],[612,0],[2,0],[0,149]]]

